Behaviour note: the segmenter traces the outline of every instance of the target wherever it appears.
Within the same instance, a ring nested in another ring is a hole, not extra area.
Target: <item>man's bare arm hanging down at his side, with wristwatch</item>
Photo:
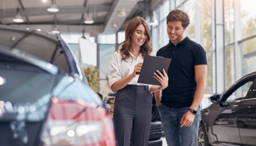
[[[194,66],[194,74],[196,78],[196,92],[194,93],[194,100],[190,108],[196,110],[200,105],[204,92],[206,89],[206,76],[207,76],[207,65],[196,65]],[[182,117],[180,121],[180,127],[190,127],[194,122],[194,114],[188,111]]]

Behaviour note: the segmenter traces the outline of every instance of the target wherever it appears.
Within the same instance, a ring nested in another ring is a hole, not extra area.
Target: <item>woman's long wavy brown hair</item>
[[[135,29],[140,25],[143,24],[143,26],[146,29],[146,33],[148,35],[147,40],[144,42],[144,44],[142,46],[140,46],[140,53],[143,55],[143,58],[146,55],[150,55],[152,52],[152,46],[151,46],[151,35],[150,35],[150,30],[149,30],[149,26],[146,22],[145,19],[137,16],[135,18],[132,18],[130,20],[130,22],[128,23],[128,25],[126,26],[126,38],[124,39],[124,41],[120,44],[118,44],[118,47],[116,48],[116,50],[118,50],[119,46],[121,46],[121,49],[119,50],[121,55],[122,55],[122,60],[126,60],[127,58],[132,58],[132,56],[129,54],[129,49],[132,45],[132,34],[133,32],[135,32]]]

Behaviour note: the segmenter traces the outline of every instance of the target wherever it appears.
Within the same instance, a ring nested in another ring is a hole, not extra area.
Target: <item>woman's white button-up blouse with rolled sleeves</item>
[[[137,58],[135,58],[131,52],[129,52],[132,58],[128,58],[126,60],[121,61],[122,56],[121,53],[116,51],[113,54],[112,60],[110,62],[110,66],[108,69],[108,82],[110,87],[118,80],[127,77],[127,75],[132,74],[134,71],[134,66],[138,63],[143,63],[143,55],[140,54],[138,55]],[[151,53],[151,56],[155,56],[155,54]],[[138,77],[140,75],[137,75],[134,77],[128,85],[145,85],[142,83],[137,83],[138,82]],[[152,85],[148,85],[149,89],[151,88]]]

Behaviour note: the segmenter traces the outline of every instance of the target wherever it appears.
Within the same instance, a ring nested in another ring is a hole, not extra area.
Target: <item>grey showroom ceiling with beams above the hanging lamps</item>
[[[55,0],[59,12],[48,12],[52,0],[0,0],[0,24],[29,27],[51,31],[54,26],[60,32],[116,33],[124,30],[127,21],[134,16],[145,18],[152,5],[161,0]],[[13,22],[19,7],[23,23]],[[149,7],[149,9],[148,9]],[[126,16],[118,17],[120,10]],[[93,24],[84,24],[87,12],[93,18]],[[112,28],[112,24],[117,24]]]

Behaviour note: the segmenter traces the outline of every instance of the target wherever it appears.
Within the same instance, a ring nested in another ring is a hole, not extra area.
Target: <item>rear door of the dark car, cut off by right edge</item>
[[[242,144],[256,145],[256,79],[243,102],[237,124]]]

